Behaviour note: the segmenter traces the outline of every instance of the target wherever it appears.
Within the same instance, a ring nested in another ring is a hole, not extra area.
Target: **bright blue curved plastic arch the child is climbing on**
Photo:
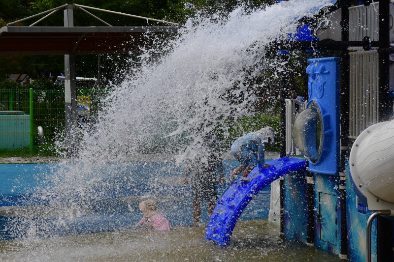
[[[249,182],[238,180],[219,199],[206,228],[205,239],[228,246],[235,224],[249,202],[265,186],[291,172],[305,170],[306,160],[283,157],[267,162],[269,168],[255,167],[248,175]]]

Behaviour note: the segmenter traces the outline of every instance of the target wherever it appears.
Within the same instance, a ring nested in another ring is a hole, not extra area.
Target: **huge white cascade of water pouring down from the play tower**
[[[110,215],[110,210],[124,208],[113,197],[138,196],[138,201],[156,195],[162,196],[164,206],[171,199],[169,208],[185,204],[186,189],[174,193],[170,186],[157,186],[158,179],[182,175],[197,157],[205,161],[203,136],[220,129],[228,137],[226,127],[248,114],[256,87],[266,92],[265,98],[275,98],[269,87],[275,75],[265,79],[263,73],[271,69],[280,74],[287,64],[269,58],[275,57],[269,45],[286,39],[296,31],[299,18],[316,14],[330,2],[293,0],[253,11],[239,7],[225,18],[197,16],[176,39],[143,50],[140,66],[132,67],[114,88],[98,123],[80,131],[78,157],[54,166],[32,196],[21,200],[24,205],[41,204],[42,216],[49,218],[37,218],[36,209],[13,211],[9,233],[36,238],[78,232],[71,222],[97,210]],[[159,154],[152,156],[155,152]],[[177,165],[157,165],[156,158],[160,163],[175,160]],[[145,183],[138,184],[141,180]],[[138,212],[135,206],[129,208]],[[176,223],[177,214],[172,216]],[[97,227],[99,232],[102,228]]]

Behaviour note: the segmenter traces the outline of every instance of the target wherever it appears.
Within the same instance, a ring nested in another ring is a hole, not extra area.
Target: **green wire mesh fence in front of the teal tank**
[[[109,89],[78,89],[89,119],[97,116]],[[78,111],[79,112],[79,111]],[[38,127],[43,134],[38,134]],[[0,89],[0,153],[39,153],[52,146],[65,127],[65,91]],[[46,152],[51,154],[50,152]]]

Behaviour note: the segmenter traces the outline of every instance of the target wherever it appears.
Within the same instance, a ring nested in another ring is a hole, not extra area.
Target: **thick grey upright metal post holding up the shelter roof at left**
[[[69,4],[64,10],[65,27],[73,27],[73,8]],[[75,128],[77,127],[77,90],[75,77],[75,58],[73,54],[65,55],[65,119],[66,119],[66,145],[68,154],[75,149]]]

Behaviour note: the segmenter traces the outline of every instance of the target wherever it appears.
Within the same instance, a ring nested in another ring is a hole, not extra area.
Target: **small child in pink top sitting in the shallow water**
[[[170,230],[168,220],[158,212],[157,205],[153,200],[142,201],[139,204],[139,210],[144,213],[144,217],[135,226],[161,231]]]

